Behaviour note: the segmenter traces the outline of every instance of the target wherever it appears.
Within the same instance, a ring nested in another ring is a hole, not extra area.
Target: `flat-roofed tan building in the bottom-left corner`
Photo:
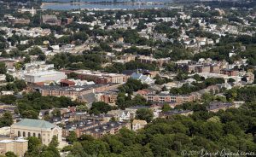
[[[0,154],[13,152],[18,157],[24,156],[28,148],[28,140],[23,138],[0,140]]]

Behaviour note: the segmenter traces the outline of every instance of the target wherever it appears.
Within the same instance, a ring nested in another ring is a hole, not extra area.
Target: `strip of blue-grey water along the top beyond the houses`
[[[56,9],[56,10],[71,10],[71,9],[160,9],[166,8],[166,4],[158,3],[171,3],[172,0],[136,0],[136,2],[141,2],[144,4],[138,3],[91,3],[91,2],[103,2],[104,0],[81,0],[81,3],[73,4],[70,3],[71,0],[57,0],[58,2],[66,3],[44,3],[42,9]],[[111,1],[111,0],[105,0]],[[55,0],[44,0],[44,2],[56,2]],[[127,2],[127,0],[117,0],[117,2]],[[128,1],[129,2],[129,1]],[[148,4],[145,4],[148,3]]]

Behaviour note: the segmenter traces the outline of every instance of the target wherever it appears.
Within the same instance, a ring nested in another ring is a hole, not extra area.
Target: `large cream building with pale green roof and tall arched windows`
[[[23,119],[11,125],[11,137],[38,137],[44,145],[48,145],[53,136],[61,142],[62,130],[45,120]]]

